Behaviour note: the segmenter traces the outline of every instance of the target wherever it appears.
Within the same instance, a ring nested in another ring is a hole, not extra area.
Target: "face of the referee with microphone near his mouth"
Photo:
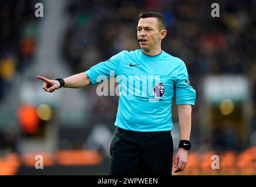
[[[141,18],[137,26],[137,37],[142,50],[151,51],[160,46],[161,31],[157,18]]]

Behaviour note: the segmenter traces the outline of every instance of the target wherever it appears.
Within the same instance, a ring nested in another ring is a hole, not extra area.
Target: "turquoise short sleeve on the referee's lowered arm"
[[[190,85],[187,68],[183,61],[177,68],[175,94],[177,105],[194,105],[196,102],[196,91]]]

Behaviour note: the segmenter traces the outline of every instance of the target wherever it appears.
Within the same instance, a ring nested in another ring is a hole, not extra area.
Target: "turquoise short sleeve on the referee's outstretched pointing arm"
[[[89,70],[85,71],[93,85],[109,79],[111,76],[118,75],[118,68],[122,60],[123,51],[111,57],[109,60],[103,61],[94,65]]]

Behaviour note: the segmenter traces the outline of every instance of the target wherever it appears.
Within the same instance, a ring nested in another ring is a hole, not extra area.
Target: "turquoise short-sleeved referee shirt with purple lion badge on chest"
[[[186,65],[164,51],[157,56],[147,56],[140,49],[122,51],[85,73],[93,85],[117,77],[120,96],[114,125],[122,129],[172,130],[173,97],[177,105],[194,105],[196,101]]]

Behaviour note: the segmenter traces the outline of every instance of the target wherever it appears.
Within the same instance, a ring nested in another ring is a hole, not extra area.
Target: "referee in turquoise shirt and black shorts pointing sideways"
[[[119,78],[122,94],[115,122],[118,128],[110,146],[110,175],[171,175],[171,102],[174,95],[181,139],[174,172],[186,168],[191,147],[191,105],[195,103],[196,92],[189,84],[184,62],[161,50],[161,40],[166,34],[163,15],[140,13],[137,25],[140,49],[122,51],[90,70],[65,79],[50,80],[38,76],[45,81],[43,89],[47,92],[61,86],[82,88],[96,85],[102,81],[100,77],[110,78],[111,72]],[[143,84],[147,85],[146,89]],[[153,89],[150,84],[153,84]]]

